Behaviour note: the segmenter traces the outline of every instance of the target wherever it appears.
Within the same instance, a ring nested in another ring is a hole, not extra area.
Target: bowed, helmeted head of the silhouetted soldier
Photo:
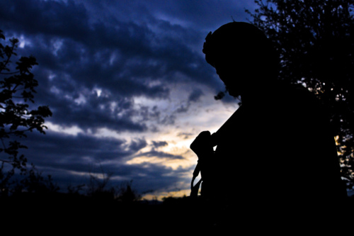
[[[210,32],[202,51],[232,96],[242,96],[276,77],[275,50],[264,33],[250,23],[234,21]]]

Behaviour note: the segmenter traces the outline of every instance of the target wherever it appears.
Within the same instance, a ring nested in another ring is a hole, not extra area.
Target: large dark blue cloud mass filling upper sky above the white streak
[[[144,123],[132,121],[139,113],[132,96],[166,99],[169,85],[183,81],[215,87],[203,57],[190,48],[201,38],[198,30],[152,17],[145,24],[106,17],[110,21],[102,22],[74,1],[1,3],[4,30],[24,35],[27,44],[19,53],[35,55],[40,64],[37,101],[52,108],[53,122],[144,131]],[[103,89],[106,98],[90,94],[94,88]],[[86,103],[73,102],[80,97]],[[111,101],[120,111],[110,111]]]

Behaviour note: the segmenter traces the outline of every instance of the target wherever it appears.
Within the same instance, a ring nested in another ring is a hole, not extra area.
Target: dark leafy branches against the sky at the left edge
[[[0,40],[5,40],[1,30]],[[47,106],[30,106],[34,103],[35,86],[38,86],[30,72],[38,64],[35,57],[20,57],[13,64],[11,60],[17,56],[19,41],[16,38],[9,41],[9,45],[0,43],[0,196],[7,194],[4,192],[8,189],[6,184],[16,169],[21,174],[26,172],[27,159],[19,154],[19,149],[27,147],[18,140],[33,130],[44,134],[44,118],[52,116]]]

